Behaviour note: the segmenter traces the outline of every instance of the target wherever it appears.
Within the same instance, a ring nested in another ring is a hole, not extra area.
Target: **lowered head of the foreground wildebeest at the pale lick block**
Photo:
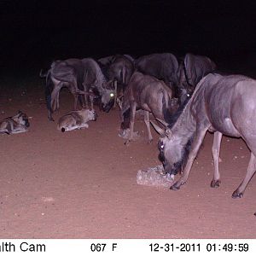
[[[172,133],[170,128],[163,130],[153,122],[151,123],[161,136],[158,142],[160,151],[159,160],[162,162],[166,173],[176,175],[177,172],[183,170],[183,167],[187,163],[189,149],[193,138],[186,139],[184,137],[176,136]]]

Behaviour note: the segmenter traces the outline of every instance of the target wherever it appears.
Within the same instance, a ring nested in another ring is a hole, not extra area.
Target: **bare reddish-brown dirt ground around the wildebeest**
[[[55,120],[73,108],[61,91]],[[146,126],[128,147],[118,137],[119,111],[98,112],[89,129],[61,133],[47,119],[44,81],[1,80],[0,117],[27,113],[27,133],[0,135],[0,238],[256,238],[256,179],[243,198],[231,194],[247,170],[249,150],[224,137],[221,186],[212,189],[208,133],[179,191],[137,184],[137,171],[160,165]],[[177,178],[177,177],[176,177]]]

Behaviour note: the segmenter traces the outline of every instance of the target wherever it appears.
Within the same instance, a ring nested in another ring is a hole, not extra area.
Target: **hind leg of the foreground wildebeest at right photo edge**
[[[234,193],[232,194],[233,198],[238,198],[238,197],[241,198],[241,196],[243,195],[247,187],[247,183],[253,177],[253,174],[255,173],[255,171],[256,171],[256,158],[255,158],[255,155],[251,152],[251,158],[249,160],[249,165],[247,167],[246,177],[244,178],[240,186],[236,189],[236,191],[234,191]]]

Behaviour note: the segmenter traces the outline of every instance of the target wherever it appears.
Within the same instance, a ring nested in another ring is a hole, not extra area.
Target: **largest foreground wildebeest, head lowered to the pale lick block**
[[[187,182],[195,156],[207,131],[214,132],[212,156],[214,173],[211,187],[218,187],[218,156],[222,135],[242,137],[251,151],[247,174],[232,197],[241,197],[256,171],[256,81],[241,75],[208,74],[195,88],[188,104],[161,134],[160,160],[164,169],[180,179],[171,187],[177,190]]]

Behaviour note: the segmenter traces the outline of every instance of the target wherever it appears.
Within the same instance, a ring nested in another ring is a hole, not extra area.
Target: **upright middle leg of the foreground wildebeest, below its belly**
[[[213,157],[213,164],[214,164],[214,173],[213,179],[211,182],[212,188],[218,188],[220,185],[220,175],[218,172],[218,159],[219,159],[219,149],[221,143],[222,133],[219,131],[214,132],[213,144],[212,144],[212,157]]]

